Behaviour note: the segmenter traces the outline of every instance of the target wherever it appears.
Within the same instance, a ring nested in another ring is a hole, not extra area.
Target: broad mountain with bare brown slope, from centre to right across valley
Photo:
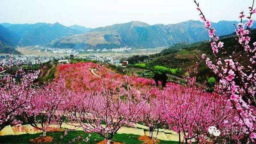
[[[217,34],[227,35],[234,32],[236,21],[220,21],[212,23]],[[86,34],[62,37],[49,43],[58,48],[118,48],[170,46],[180,42],[188,44],[208,39],[208,30],[200,21],[189,20],[178,24],[149,25],[132,21],[124,24],[95,28]]]

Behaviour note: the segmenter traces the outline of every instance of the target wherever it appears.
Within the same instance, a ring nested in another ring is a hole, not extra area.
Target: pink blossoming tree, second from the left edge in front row
[[[42,130],[45,136],[50,124],[61,123],[64,108],[68,106],[71,95],[64,78],[60,76],[58,80],[37,90],[30,103],[30,110],[24,111],[22,116],[31,126]]]

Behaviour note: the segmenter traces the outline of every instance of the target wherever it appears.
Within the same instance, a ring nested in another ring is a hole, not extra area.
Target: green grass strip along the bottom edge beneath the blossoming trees
[[[6,143],[6,144],[11,144],[11,143],[28,143],[30,139],[37,138],[41,135],[42,133],[38,134],[21,134],[21,135],[9,135],[9,136],[0,136],[0,143]],[[63,135],[63,132],[49,132],[46,133],[46,136],[52,136],[54,139],[52,143],[69,143],[71,142],[74,138],[77,138],[78,136],[82,136],[82,139],[86,139],[88,136],[87,133],[84,131],[70,131],[66,136],[63,138],[60,138],[60,136]],[[116,134],[113,138],[114,141],[116,142],[121,142],[121,143],[126,143],[126,144],[138,144],[142,143],[140,140],[138,140],[138,135],[134,134]],[[88,143],[97,143],[104,138],[102,138],[100,135],[96,133],[92,133],[89,141],[83,141],[83,140],[76,140],[74,143],[83,143],[83,144],[88,144]],[[73,143],[73,142],[72,142]]]

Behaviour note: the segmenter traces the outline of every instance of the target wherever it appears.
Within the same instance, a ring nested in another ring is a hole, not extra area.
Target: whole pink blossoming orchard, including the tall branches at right
[[[39,86],[38,71],[24,72],[10,59],[0,66],[9,71],[0,85],[0,130],[26,122],[46,136],[50,124],[78,123],[84,132],[95,132],[109,144],[121,127],[140,122],[149,127],[150,138],[153,131],[167,128],[179,134],[180,143],[256,142],[256,42],[248,36],[256,9],[252,4],[247,15],[240,12],[240,23],[234,26],[237,46],[230,54],[194,2],[215,58],[202,54],[219,77],[214,92],[195,85],[197,63],[184,76],[185,84],[167,83],[164,88],[154,80],[116,74],[92,62],[59,64],[57,78]],[[241,62],[244,58],[246,63]],[[97,76],[92,69],[97,69]],[[212,126],[221,133],[210,133]],[[244,131],[225,133],[234,127]]]

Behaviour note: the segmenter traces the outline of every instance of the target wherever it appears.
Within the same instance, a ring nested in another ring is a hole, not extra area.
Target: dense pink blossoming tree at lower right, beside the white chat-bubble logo
[[[186,85],[172,85],[164,90],[164,118],[170,128],[178,132],[179,142],[183,134],[186,143],[192,140],[205,143],[211,139],[208,127],[221,129],[232,120],[230,103],[223,96],[204,92],[203,86],[196,87],[196,77],[190,77],[190,72],[185,79]]]

